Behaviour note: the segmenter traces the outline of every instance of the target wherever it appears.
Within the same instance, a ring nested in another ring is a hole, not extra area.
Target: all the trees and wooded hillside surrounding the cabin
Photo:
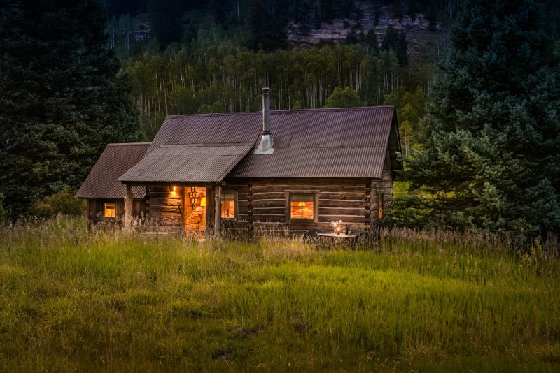
[[[7,4],[2,214],[71,196],[107,142],[149,141],[166,115],[259,110],[269,86],[273,109],[395,105],[414,189],[398,224],[560,227],[557,1]]]

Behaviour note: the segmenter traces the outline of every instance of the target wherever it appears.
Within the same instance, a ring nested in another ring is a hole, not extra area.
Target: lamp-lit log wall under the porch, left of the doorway
[[[151,187],[146,189],[146,211],[148,219],[168,232],[183,231],[183,188]]]

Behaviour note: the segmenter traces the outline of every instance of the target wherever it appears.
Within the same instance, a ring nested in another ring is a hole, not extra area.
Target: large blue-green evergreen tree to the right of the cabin
[[[470,0],[434,82],[407,180],[431,217],[493,231],[560,228],[560,67],[542,6]]]

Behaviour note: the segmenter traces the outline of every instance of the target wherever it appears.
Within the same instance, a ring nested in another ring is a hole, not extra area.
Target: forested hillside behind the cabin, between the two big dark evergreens
[[[344,37],[310,45],[298,38],[307,34],[301,26],[289,43],[286,39],[288,23],[305,22],[303,15],[309,11],[301,9],[311,6],[306,2],[288,2],[286,6],[270,2],[275,6],[267,9],[244,1],[211,3],[214,5],[209,8],[168,4],[169,8],[186,9],[178,24],[182,31],[174,34],[181,38],[158,37],[161,33],[157,31],[156,19],[162,15],[155,10],[152,13],[150,3],[145,8],[139,3],[126,8],[131,13],[120,14],[118,18],[114,15],[119,14],[117,8],[108,6],[113,14],[106,27],[111,35],[109,45],[122,60],[123,73],[130,76],[144,136],[148,139],[165,115],[258,110],[262,86],[271,87],[273,108],[297,109],[322,107],[335,87],[358,92],[363,105],[379,105],[401,86],[415,92],[425,91],[430,84],[437,53],[433,46],[426,45],[428,58],[409,61],[407,31],[398,24],[405,13],[401,9],[400,15],[393,14],[393,5],[372,2],[358,6],[355,1],[343,1],[345,6],[335,6],[325,2],[325,8],[316,13],[319,18],[309,27],[320,28],[321,24],[344,20]],[[255,3],[262,6],[267,2]],[[405,6],[403,3],[402,8]],[[239,10],[239,17],[231,13],[232,7]],[[277,15],[273,11],[276,8],[286,11]],[[216,13],[216,9],[223,12]],[[359,9],[364,11],[360,13]],[[143,10],[146,13],[141,13]],[[265,21],[262,15],[271,19]],[[272,22],[276,18],[282,20],[280,26]],[[399,29],[392,24],[379,26],[384,18],[395,20]],[[410,22],[411,18],[408,19]],[[365,27],[368,20],[369,29]],[[150,34],[144,38],[146,24],[150,25]],[[437,38],[445,31],[428,31],[435,24],[440,22],[432,17],[422,28]],[[280,28],[274,31],[274,27]],[[144,34],[136,40],[134,36],[139,33]],[[256,35],[259,41],[255,41]]]

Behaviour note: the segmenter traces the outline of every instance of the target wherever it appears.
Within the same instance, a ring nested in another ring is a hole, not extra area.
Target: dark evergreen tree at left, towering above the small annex
[[[76,189],[107,142],[134,140],[137,112],[94,1],[0,10],[0,192],[8,212]]]

